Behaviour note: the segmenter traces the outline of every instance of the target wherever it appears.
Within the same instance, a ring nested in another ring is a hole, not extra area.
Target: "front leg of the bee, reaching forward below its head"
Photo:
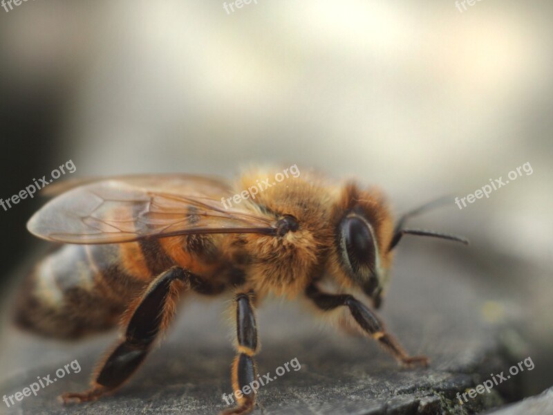
[[[388,353],[402,365],[427,366],[430,359],[426,356],[409,356],[392,335],[386,333],[384,324],[380,322],[373,311],[367,308],[362,302],[349,294],[328,294],[319,291],[314,285],[306,290],[306,295],[323,311],[330,311],[339,306],[347,306],[354,320],[359,324],[365,333],[378,340]]]

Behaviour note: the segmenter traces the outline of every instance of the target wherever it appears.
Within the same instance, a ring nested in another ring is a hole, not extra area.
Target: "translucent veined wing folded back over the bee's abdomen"
[[[37,237],[64,243],[122,243],[200,233],[270,233],[272,219],[242,203],[228,210],[232,187],[207,176],[121,176],[80,185],[49,201],[27,223]]]

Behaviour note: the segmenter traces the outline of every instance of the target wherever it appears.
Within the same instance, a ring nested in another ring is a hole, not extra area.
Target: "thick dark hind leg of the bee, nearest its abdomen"
[[[174,315],[175,302],[182,288],[190,288],[197,277],[182,268],[174,267],[153,279],[133,301],[124,314],[124,340],[107,358],[100,361],[91,389],[81,393],[68,392],[60,396],[64,403],[86,402],[112,394],[136,369],[151,350],[158,333],[163,331]]]

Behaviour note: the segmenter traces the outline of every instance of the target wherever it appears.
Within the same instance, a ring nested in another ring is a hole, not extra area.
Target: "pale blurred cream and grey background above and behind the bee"
[[[456,3],[0,8],[0,197],[67,160],[65,178],[297,164],[377,184],[395,212],[451,195],[412,225],[467,235],[489,291],[524,296],[517,307],[541,315],[528,332],[550,345],[553,4]],[[532,174],[489,199],[453,202],[524,163]],[[0,208],[4,297],[46,246],[25,229],[44,200]],[[507,277],[515,262],[532,268]],[[1,367],[16,370],[10,336],[1,344]]]

